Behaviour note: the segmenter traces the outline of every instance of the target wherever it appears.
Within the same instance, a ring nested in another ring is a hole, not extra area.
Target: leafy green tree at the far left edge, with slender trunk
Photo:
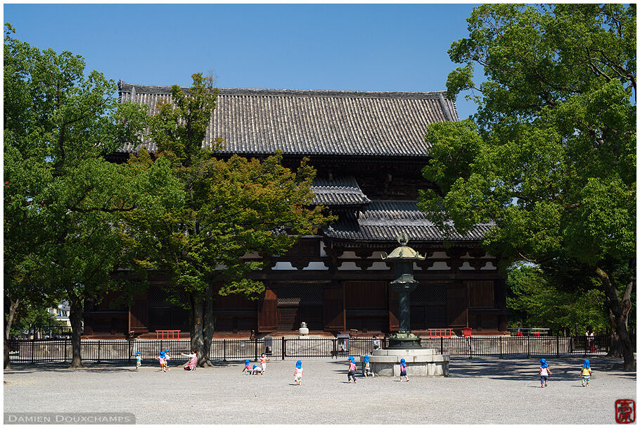
[[[71,367],[81,367],[84,299],[122,284],[110,275],[129,252],[120,213],[151,204],[148,174],[104,156],[135,141],[147,115],[117,103],[113,80],[85,76],[81,56],[40,51],[13,32],[7,24],[4,286],[19,296],[30,278],[43,296],[70,303]]]

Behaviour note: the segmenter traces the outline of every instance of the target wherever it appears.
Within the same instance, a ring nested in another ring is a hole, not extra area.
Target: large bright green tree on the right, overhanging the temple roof
[[[430,125],[421,208],[443,230],[494,222],[504,265],[570,265],[598,280],[620,339],[636,258],[636,6],[482,5],[449,56],[449,96],[472,89],[473,119]],[[473,66],[486,82],[476,85]]]

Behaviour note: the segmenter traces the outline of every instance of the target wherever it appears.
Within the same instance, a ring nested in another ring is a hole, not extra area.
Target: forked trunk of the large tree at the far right
[[[625,370],[635,371],[634,348],[631,343],[631,337],[629,337],[629,332],[627,331],[627,317],[629,316],[629,310],[631,308],[629,296],[631,295],[631,288],[633,284],[627,285],[627,290],[625,290],[625,294],[621,302],[620,297],[617,294],[617,287],[615,287],[615,283],[611,281],[606,272],[600,267],[596,267],[595,273],[600,279],[604,289],[608,303],[607,306],[610,310],[610,321],[612,322],[613,330],[617,333],[618,344],[612,342],[611,346],[612,348],[616,346],[619,348],[620,353],[622,353],[622,358],[625,360]],[[627,294],[629,296],[627,296]]]

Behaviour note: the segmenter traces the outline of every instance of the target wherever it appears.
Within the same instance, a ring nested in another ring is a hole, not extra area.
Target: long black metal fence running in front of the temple
[[[386,339],[380,339],[386,346]],[[478,336],[422,338],[421,345],[452,357],[473,358],[492,355],[499,358],[515,355],[603,355],[609,351],[609,336]],[[70,361],[71,341],[12,339],[8,341],[11,363]],[[160,351],[169,350],[173,360],[186,360],[180,353],[191,351],[191,342],[181,340],[83,340],[80,355],[87,361],[135,360],[140,352],[143,360],[153,360]],[[347,355],[371,354],[372,338],[271,338],[215,339],[210,348],[212,360],[256,360],[261,353],[269,358],[343,358]]]

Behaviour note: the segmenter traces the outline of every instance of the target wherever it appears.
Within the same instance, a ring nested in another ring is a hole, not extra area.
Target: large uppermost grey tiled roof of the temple
[[[169,87],[119,83],[120,101],[150,107]],[[187,88],[184,88],[187,89]],[[223,153],[427,156],[426,127],[458,120],[445,92],[220,89],[204,144],[222,137]],[[153,141],[147,141],[150,151]],[[131,144],[122,151],[138,148]]]

